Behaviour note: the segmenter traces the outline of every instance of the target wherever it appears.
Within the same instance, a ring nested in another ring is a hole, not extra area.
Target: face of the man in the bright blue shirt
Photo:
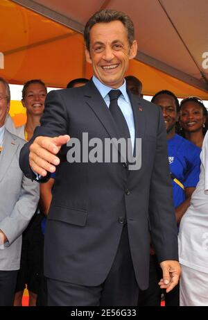
[[[178,120],[175,99],[168,94],[159,94],[156,96],[154,103],[162,109],[162,115],[166,125],[168,139],[175,135],[175,122]]]

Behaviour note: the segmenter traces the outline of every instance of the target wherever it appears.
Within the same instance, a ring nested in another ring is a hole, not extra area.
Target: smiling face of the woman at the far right
[[[205,124],[206,116],[200,105],[194,101],[187,101],[182,105],[180,110],[180,124],[184,131],[196,132],[202,130]]]

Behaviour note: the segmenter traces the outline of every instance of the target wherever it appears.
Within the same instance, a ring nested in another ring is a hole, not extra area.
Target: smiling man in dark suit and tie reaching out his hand
[[[125,88],[125,71],[137,54],[130,18],[96,12],[84,36],[94,77],[84,87],[49,93],[20,166],[42,181],[56,169],[45,234],[49,305],[137,305],[139,288],[148,287],[149,231],[163,271],[159,285],[170,291],[180,276],[166,130],[159,108]],[[69,135],[81,147],[73,163]],[[124,135],[134,155],[142,140],[137,170],[123,161],[121,149],[118,162],[83,159],[93,138],[104,144]]]

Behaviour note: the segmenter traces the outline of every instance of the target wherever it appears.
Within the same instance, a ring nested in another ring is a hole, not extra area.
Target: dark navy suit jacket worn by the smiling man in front
[[[164,119],[153,103],[128,94],[135,135],[142,138],[141,169],[129,171],[121,162],[69,164],[67,148],[62,146],[45,235],[44,268],[49,278],[89,286],[103,283],[119,246],[125,216],[141,289],[148,287],[150,228],[159,261],[177,260]],[[50,92],[34,138],[67,133],[82,146],[83,132],[89,139],[102,141],[116,137],[110,110],[94,83]],[[28,162],[31,142],[21,150],[20,166],[33,179]]]

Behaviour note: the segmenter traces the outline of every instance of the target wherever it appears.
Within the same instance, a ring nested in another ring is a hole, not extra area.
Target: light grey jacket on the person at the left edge
[[[25,141],[5,130],[0,154],[0,229],[8,242],[1,245],[0,270],[18,270],[21,233],[35,213],[39,185],[19,168],[19,152]]]

